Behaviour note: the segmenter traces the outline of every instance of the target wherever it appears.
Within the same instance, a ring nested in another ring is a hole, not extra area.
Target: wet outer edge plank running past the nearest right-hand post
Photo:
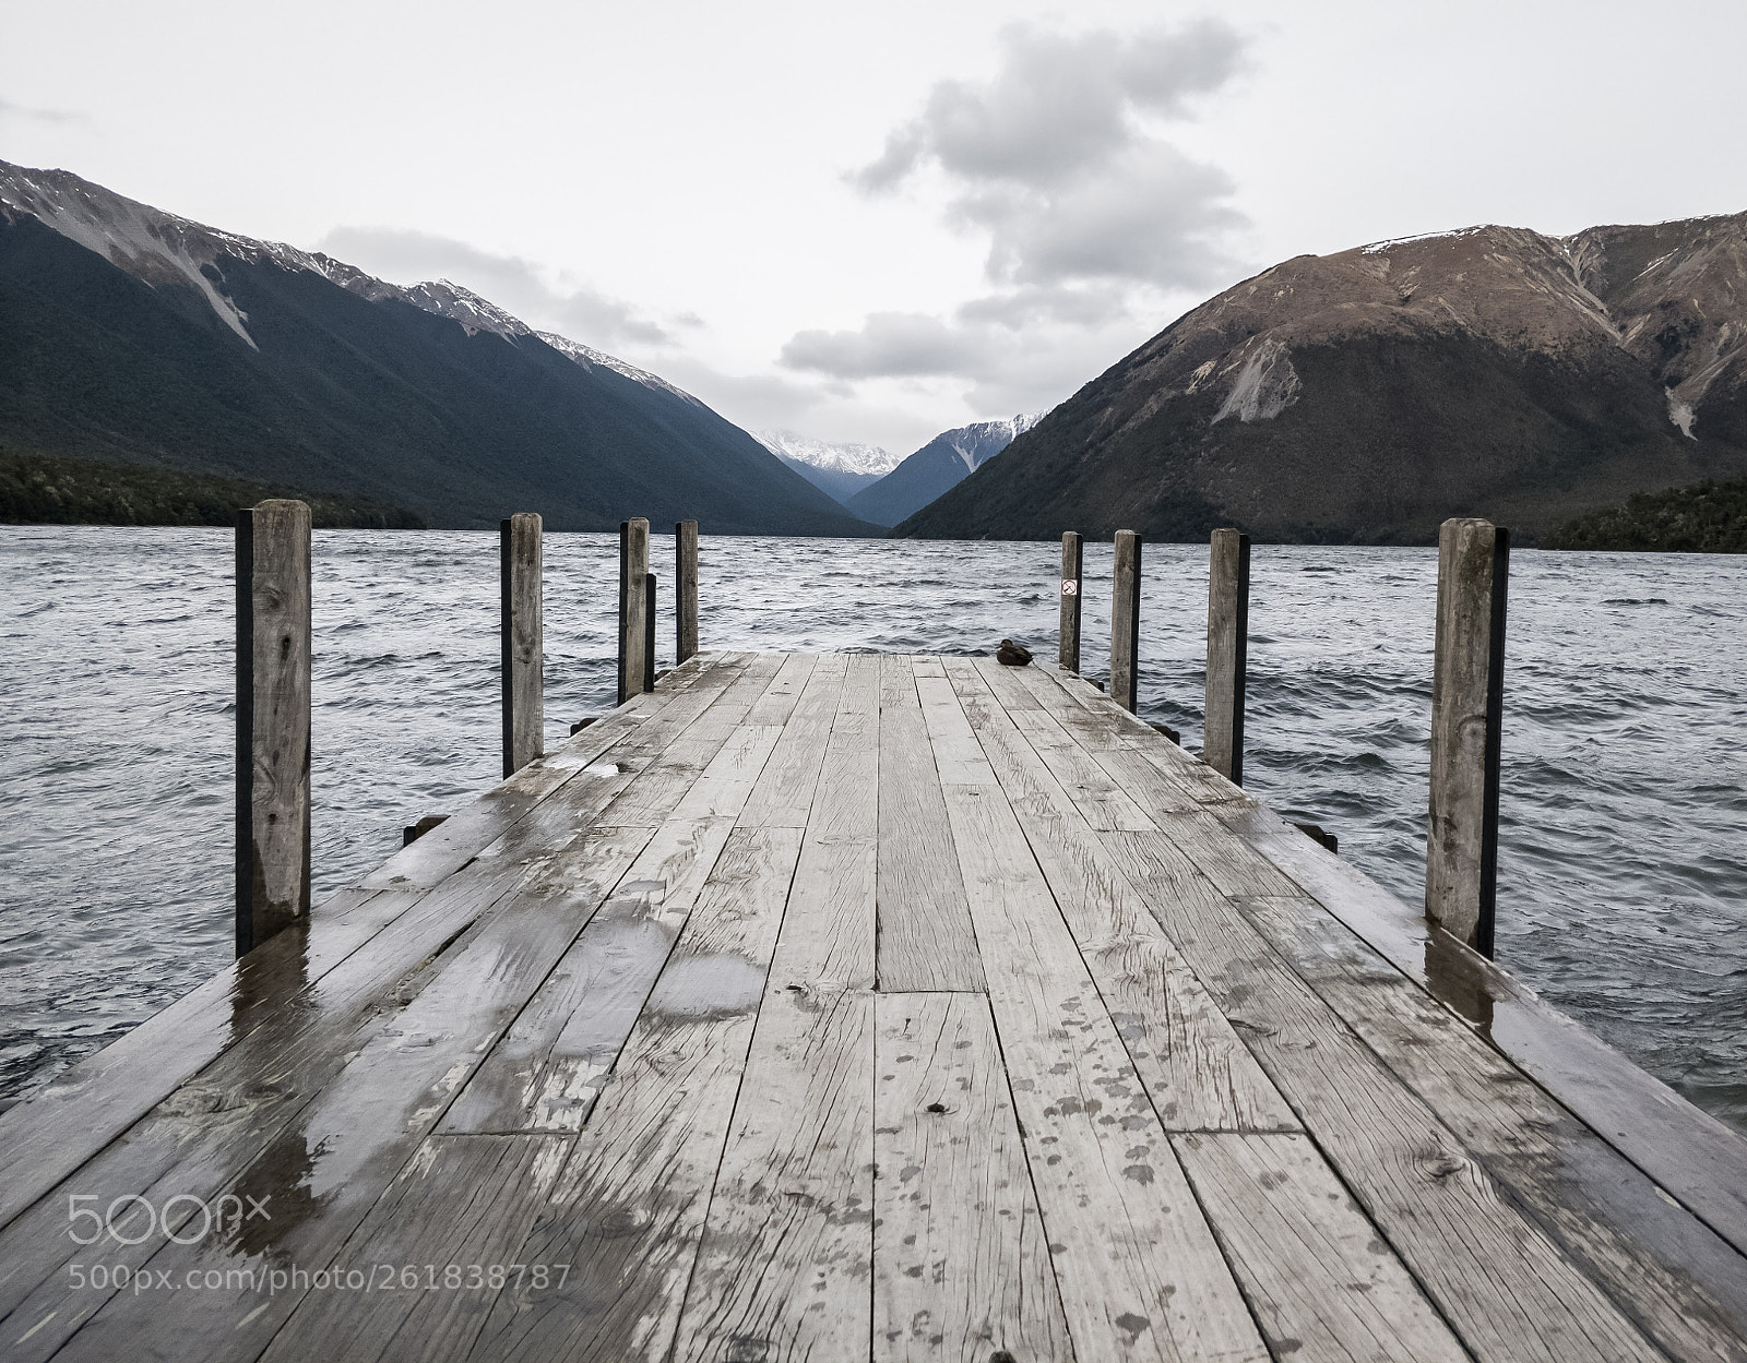
[[[1740,1134],[1270,812],[1242,817],[1237,829],[1303,894],[1466,1017],[1658,1187],[1747,1253],[1747,1141]]]

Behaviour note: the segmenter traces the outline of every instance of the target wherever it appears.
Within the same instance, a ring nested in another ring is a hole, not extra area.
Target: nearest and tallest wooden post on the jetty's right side
[[[1499,735],[1511,532],[1452,518],[1438,532],[1426,916],[1485,956],[1499,867]]]

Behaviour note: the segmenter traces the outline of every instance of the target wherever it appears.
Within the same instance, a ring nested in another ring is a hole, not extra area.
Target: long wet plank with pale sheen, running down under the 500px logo
[[[147,1293],[115,1295],[56,1356],[264,1349],[307,1288],[287,1284],[262,1300],[253,1271],[332,1264],[646,841],[641,829],[582,834],[566,867],[531,881],[445,958],[395,1026],[349,1058],[232,1188],[274,1206],[271,1225],[187,1246],[168,1243],[148,1260],[171,1281],[197,1272],[222,1286],[180,1293],[169,1312]]]

